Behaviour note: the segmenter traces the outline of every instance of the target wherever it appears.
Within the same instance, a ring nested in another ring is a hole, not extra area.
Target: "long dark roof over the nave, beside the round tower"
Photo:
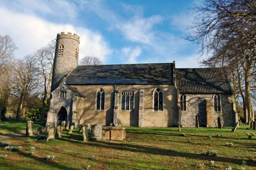
[[[173,64],[79,65],[67,85],[173,84]]]

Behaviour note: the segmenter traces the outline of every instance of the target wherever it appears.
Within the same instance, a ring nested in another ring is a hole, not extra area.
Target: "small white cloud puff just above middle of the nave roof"
[[[122,60],[126,63],[126,64],[136,64],[137,63],[137,58],[140,56],[141,54],[141,49],[140,47],[135,47],[135,48],[131,48],[131,47],[123,47],[121,49],[122,52]],[[128,58],[128,59],[127,59]]]

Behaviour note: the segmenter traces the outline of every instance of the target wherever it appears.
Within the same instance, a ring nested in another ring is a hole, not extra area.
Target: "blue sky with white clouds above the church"
[[[35,52],[60,32],[80,37],[79,59],[104,64],[172,63],[197,68],[196,44],[181,37],[198,0],[0,0],[0,35],[10,35],[16,58]]]

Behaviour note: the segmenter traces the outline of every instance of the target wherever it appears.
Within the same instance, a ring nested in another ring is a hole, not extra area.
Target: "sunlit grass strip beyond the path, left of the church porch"
[[[43,122],[34,122],[34,129],[43,126]],[[0,122],[0,135],[26,131],[26,121],[4,121]]]

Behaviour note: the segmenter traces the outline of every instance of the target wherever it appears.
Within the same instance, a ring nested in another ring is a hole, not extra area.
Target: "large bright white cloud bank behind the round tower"
[[[45,46],[62,31],[75,33],[80,37],[80,58],[85,55],[97,56],[104,62],[106,56],[112,53],[108,43],[99,33],[86,28],[75,28],[70,24],[55,24],[2,7],[0,7],[0,16],[4,16],[0,22],[0,33],[8,34],[13,38],[16,46],[19,47],[19,51],[16,52],[19,58]]]

